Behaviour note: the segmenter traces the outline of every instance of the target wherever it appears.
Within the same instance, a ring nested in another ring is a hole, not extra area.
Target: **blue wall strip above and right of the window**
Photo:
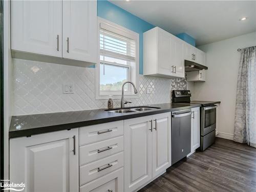
[[[123,10],[122,8],[108,2],[98,0],[98,16],[109,20],[117,25],[120,25],[126,29],[130,29],[140,35],[139,42],[139,73],[143,74],[143,33],[155,26],[145,22],[141,18],[133,15],[130,12]]]

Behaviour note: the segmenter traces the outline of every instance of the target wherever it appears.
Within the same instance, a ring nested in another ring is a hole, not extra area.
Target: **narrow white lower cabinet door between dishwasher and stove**
[[[200,108],[192,108],[191,115],[191,152],[200,147]]]

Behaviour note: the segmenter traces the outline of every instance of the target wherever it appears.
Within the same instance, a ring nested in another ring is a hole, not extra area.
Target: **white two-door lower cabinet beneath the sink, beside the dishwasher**
[[[134,191],[170,166],[170,113],[124,120],[124,191]]]

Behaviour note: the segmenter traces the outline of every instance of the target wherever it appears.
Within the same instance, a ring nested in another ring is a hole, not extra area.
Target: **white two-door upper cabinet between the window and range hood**
[[[143,34],[143,74],[184,78],[183,43],[178,37],[155,27]]]

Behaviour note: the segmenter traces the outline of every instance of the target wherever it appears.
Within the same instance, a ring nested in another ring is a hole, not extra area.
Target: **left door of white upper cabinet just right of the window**
[[[158,73],[163,75],[172,75],[173,69],[171,65],[171,44],[170,44],[170,34],[160,28],[157,30],[157,41],[158,41],[158,49],[157,49],[157,65],[158,65]]]

